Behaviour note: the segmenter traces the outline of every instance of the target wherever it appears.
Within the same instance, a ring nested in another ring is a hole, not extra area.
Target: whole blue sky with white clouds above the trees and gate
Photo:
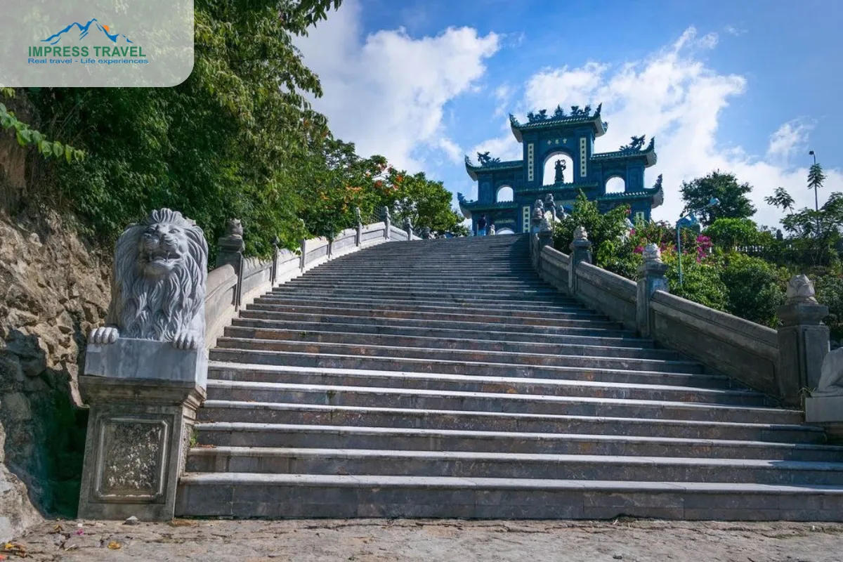
[[[678,216],[682,180],[719,168],[754,185],[756,219],[774,224],[776,186],[813,204],[809,148],[826,194],[843,190],[841,16],[819,0],[346,0],[299,44],[337,136],[454,193],[475,195],[464,154],[520,158],[508,112],[603,102],[598,150],[656,136],[657,218]]]

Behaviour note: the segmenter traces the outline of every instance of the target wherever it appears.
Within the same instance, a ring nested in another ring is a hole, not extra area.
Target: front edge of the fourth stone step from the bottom
[[[515,420],[547,420],[547,421],[610,421],[613,423],[622,424],[647,424],[660,426],[687,426],[687,427],[734,427],[745,429],[760,429],[767,431],[808,431],[814,433],[824,433],[824,429],[819,426],[808,426],[805,424],[771,424],[767,422],[751,423],[748,421],[710,421],[710,420],[675,420],[671,418],[625,418],[620,416],[610,415],[570,415],[570,414],[525,414],[523,412],[490,412],[490,411],[472,411],[464,409],[421,409],[421,408],[389,408],[384,406],[340,406],[334,404],[298,404],[287,402],[245,402],[242,400],[205,400],[203,407],[207,409],[227,408],[227,409],[276,409],[296,411],[303,410],[309,412],[346,412],[356,414],[391,414],[391,415],[407,415],[407,416],[426,416],[426,415],[444,415],[444,416],[459,416],[464,417],[471,415],[474,417],[487,418],[512,418]],[[203,422],[203,423],[246,423],[246,422]],[[263,424],[266,425],[266,424]],[[269,424],[273,425],[273,424]],[[301,426],[301,424],[294,424]],[[314,427],[333,427],[341,428],[366,428],[368,426],[314,426]],[[486,431],[486,430],[443,430],[435,428],[406,428],[406,427],[379,427],[372,426],[373,429],[389,429],[393,431],[470,431],[475,433],[518,433],[518,431]],[[535,433],[526,432],[526,433]],[[536,433],[536,435],[553,435],[545,433]],[[574,434],[580,435],[580,434]],[[822,443],[819,443],[820,445]],[[843,446],[840,449],[843,452]]]

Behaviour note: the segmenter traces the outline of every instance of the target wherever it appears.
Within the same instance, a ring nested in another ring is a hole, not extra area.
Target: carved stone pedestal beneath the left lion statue
[[[173,518],[206,379],[203,348],[129,339],[89,345],[79,377],[91,407],[79,517]]]

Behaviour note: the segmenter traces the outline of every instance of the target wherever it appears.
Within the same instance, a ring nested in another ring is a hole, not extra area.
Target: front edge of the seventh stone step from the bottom
[[[325,357],[327,359],[350,359],[350,360],[360,360],[360,359],[369,359],[375,361],[401,361],[403,363],[407,363],[410,365],[430,365],[433,362],[442,363],[446,365],[464,365],[466,367],[512,367],[513,369],[538,369],[540,371],[547,371],[547,372],[593,372],[593,373],[600,373],[600,374],[616,374],[619,372],[626,373],[626,374],[634,374],[634,375],[642,375],[642,376],[652,376],[652,377],[664,377],[665,375],[670,375],[671,377],[695,377],[695,378],[705,378],[711,381],[728,381],[729,377],[726,375],[714,375],[708,373],[692,373],[692,372],[665,372],[665,371],[638,371],[636,369],[615,369],[615,368],[607,368],[607,367],[561,367],[561,366],[534,366],[534,365],[518,365],[517,363],[487,363],[481,361],[454,361],[450,359],[424,359],[424,358],[416,358],[416,357],[378,357],[378,356],[353,356],[353,355],[341,355],[337,353],[308,353],[304,351],[263,351],[263,350],[244,350],[239,349],[236,347],[215,347],[211,351],[219,351],[222,353],[225,352],[239,352],[239,353],[246,353],[250,355],[257,355],[257,356],[271,356],[271,357],[282,357],[282,356],[309,356],[309,357]],[[214,359],[212,361],[219,361],[218,359]],[[234,361],[223,361],[223,362],[234,362]],[[250,363],[248,361],[244,361],[239,363],[240,365],[261,365],[261,363]],[[270,367],[265,365],[265,367]],[[280,366],[277,366],[280,367]],[[301,366],[298,366],[301,367]],[[314,368],[319,368],[319,366],[314,366]],[[373,369],[369,369],[373,370]],[[401,370],[401,371],[390,371],[385,370],[387,372],[420,372],[420,371],[410,371],[410,370]],[[422,371],[423,372],[423,371]],[[542,378],[542,377],[539,377]]]

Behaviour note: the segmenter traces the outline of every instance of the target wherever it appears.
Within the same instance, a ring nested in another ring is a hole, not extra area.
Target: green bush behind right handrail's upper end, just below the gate
[[[592,243],[592,253],[595,263],[601,267],[607,260],[617,253],[617,240],[626,233],[626,217],[629,215],[628,206],[618,206],[600,213],[595,201],[588,201],[588,197],[581,191],[571,214],[556,222],[554,244],[556,249],[569,252],[568,247],[574,239],[574,230],[585,227],[588,239]]]

